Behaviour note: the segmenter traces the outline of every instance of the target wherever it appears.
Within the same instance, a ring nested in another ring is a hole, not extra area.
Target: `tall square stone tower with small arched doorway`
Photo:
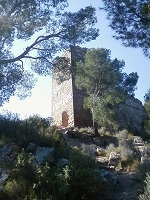
[[[73,63],[83,60],[87,49],[70,47],[62,56],[69,60],[69,67]],[[85,93],[75,86],[73,73],[68,78],[58,82],[56,79],[59,70],[53,69],[52,73],[52,124],[57,126],[92,126],[91,114],[83,108]],[[64,76],[65,72],[62,72]]]

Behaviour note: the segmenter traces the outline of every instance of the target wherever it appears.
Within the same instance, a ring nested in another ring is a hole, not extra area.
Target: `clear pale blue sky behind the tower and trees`
[[[77,11],[88,5],[97,8],[97,27],[100,29],[100,36],[89,43],[82,46],[89,48],[107,48],[111,50],[111,58],[118,58],[125,61],[124,71],[126,73],[137,72],[139,81],[135,97],[143,102],[145,92],[150,87],[150,59],[146,58],[141,49],[127,48],[121,44],[121,41],[112,38],[113,32],[108,27],[109,21],[106,19],[106,13],[99,11],[98,6],[102,6],[100,0],[69,0],[71,11]],[[17,46],[17,48],[16,48]],[[14,46],[14,52],[21,51],[23,44]],[[26,100],[20,101],[17,97],[11,97],[9,103],[5,103],[2,110],[9,110],[13,113],[19,113],[21,118],[28,117],[33,114],[39,114],[42,117],[51,115],[51,79],[50,77],[39,77],[35,88],[32,90],[32,96]]]

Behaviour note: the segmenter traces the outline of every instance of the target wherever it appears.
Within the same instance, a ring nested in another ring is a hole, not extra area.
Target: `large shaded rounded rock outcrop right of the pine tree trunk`
[[[141,134],[144,120],[147,117],[142,102],[134,97],[129,97],[124,104],[115,108],[117,121],[123,129]]]

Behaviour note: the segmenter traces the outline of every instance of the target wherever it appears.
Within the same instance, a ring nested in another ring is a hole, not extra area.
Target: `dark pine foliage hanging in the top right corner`
[[[140,47],[150,57],[150,2],[149,0],[103,0],[114,37],[125,46]]]

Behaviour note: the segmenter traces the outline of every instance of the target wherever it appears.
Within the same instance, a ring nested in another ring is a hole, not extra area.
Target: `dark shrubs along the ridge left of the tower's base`
[[[0,138],[6,142],[13,141],[21,146],[34,142],[41,146],[65,147],[65,139],[56,127],[49,126],[49,119],[34,115],[25,120],[7,114],[0,117]],[[64,150],[65,151],[65,150]],[[63,152],[63,151],[62,151]]]

